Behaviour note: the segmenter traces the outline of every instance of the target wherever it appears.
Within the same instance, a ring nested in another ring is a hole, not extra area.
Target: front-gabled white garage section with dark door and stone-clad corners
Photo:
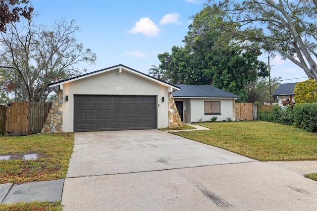
[[[122,64],[49,87],[56,98],[43,132],[146,130],[175,124],[170,96],[180,88]]]

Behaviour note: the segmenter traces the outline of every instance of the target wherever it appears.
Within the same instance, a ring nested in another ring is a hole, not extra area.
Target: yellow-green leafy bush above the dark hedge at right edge
[[[317,83],[314,79],[299,82],[294,87],[294,101],[297,104],[317,103]]]

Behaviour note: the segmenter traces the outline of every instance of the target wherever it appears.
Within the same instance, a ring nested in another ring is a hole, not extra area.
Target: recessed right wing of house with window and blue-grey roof
[[[175,85],[173,92],[178,112],[184,123],[233,119],[233,103],[239,96],[209,85]]]

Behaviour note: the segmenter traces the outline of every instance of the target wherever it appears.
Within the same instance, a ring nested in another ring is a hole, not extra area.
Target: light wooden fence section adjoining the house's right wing
[[[251,121],[258,120],[258,105],[253,103],[234,104],[236,120]]]

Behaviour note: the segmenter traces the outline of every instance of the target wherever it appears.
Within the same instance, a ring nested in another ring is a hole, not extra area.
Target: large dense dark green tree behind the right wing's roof
[[[216,27],[223,23],[218,12],[216,7],[206,6],[193,16],[185,47],[173,46],[171,53],[159,54],[159,67],[173,84],[212,85],[245,101],[248,84],[268,75],[266,65],[257,59],[259,49],[242,48],[230,36],[222,36]]]

